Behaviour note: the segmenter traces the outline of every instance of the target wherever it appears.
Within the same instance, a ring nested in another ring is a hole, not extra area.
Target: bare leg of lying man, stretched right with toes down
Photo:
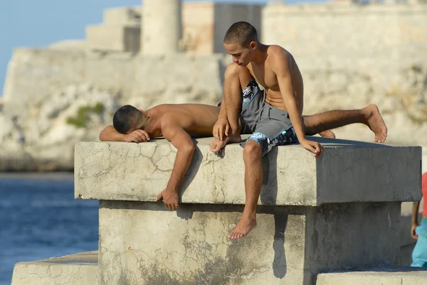
[[[332,110],[304,116],[305,134],[309,136],[356,123],[366,124],[374,132],[375,142],[383,143],[386,140],[387,127],[375,104],[363,109]]]

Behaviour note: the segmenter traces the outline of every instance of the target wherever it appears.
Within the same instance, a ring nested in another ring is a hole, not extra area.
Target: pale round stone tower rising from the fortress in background
[[[178,51],[181,40],[181,0],[144,0],[141,50],[144,55]]]

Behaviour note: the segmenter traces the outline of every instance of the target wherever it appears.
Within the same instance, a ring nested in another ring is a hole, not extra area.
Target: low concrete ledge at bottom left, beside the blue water
[[[15,264],[11,285],[97,285],[97,252]]]

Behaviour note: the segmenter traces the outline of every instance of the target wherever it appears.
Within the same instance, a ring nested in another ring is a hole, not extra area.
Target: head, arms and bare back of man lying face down
[[[359,112],[367,112],[365,110],[367,108]],[[139,143],[163,136],[171,141],[177,149],[174,167],[167,187],[162,190],[156,200],[163,199],[167,208],[176,210],[179,207],[178,188],[196,148],[191,138],[212,136],[219,113],[220,107],[206,104],[161,104],[146,111],[125,105],[115,112],[113,125],[105,127],[100,132],[100,140]],[[313,115],[320,116],[320,120],[316,121],[320,124],[322,124],[322,114]],[[243,134],[244,128],[240,127],[240,122],[238,124]],[[312,127],[305,126],[305,131],[309,134],[326,129],[328,129],[327,124],[324,127],[315,124]]]

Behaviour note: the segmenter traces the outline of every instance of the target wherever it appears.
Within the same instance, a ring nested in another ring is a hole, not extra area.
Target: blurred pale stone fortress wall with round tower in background
[[[426,5],[146,0],[142,8],[105,10],[85,41],[14,51],[0,102],[0,170],[72,169],[75,142],[96,140],[121,104],[216,104],[231,62],[223,33],[241,20],[295,56],[305,114],[376,103],[389,142],[427,145]],[[373,139],[364,126],[337,136]]]

